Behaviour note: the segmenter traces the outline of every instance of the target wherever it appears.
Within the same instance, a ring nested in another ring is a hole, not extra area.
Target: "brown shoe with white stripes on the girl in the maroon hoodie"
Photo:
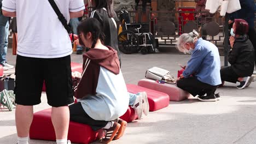
[[[104,129],[105,130],[105,137],[101,140],[101,143],[109,143],[112,141],[115,137],[115,134],[117,134],[119,128],[121,125],[117,122],[112,122],[112,125],[109,129]]]

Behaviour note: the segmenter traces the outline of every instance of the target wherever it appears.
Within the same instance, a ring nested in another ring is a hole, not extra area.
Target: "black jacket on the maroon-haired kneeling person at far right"
[[[229,63],[238,76],[251,76],[254,70],[254,48],[247,35],[235,39]]]

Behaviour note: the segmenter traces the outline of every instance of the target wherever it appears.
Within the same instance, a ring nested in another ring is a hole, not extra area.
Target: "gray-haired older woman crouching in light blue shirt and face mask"
[[[194,30],[182,34],[177,41],[177,49],[190,53],[187,68],[177,79],[177,86],[189,92],[201,101],[219,100],[215,94],[220,79],[220,58],[218,48],[210,41],[198,39],[199,34]],[[206,94],[206,95],[205,95]]]

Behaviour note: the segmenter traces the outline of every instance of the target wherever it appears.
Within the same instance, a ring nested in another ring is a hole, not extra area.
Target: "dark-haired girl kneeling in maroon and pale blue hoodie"
[[[119,139],[126,122],[118,119],[129,106],[129,94],[120,70],[117,51],[104,46],[101,24],[88,18],[78,26],[80,44],[91,47],[83,55],[83,73],[74,87],[78,103],[69,106],[70,120],[90,125],[93,130],[103,129],[102,143]],[[115,120],[118,119],[118,122]]]

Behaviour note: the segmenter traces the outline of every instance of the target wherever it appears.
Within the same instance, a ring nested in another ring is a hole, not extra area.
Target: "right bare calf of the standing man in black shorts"
[[[51,122],[53,122],[56,140],[67,139],[69,126],[68,106],[53,107],[51,110]]]

